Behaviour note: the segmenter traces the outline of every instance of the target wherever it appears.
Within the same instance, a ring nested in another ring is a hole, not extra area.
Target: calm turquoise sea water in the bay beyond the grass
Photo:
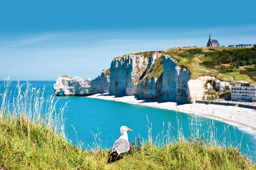
[[[26,82],[20,82],[23,84]],[[45,97],[50,96],[54,93],[53,84],[55,81],[30,81],[33,87],[43,88],[45,85]],[[4,82],[0,81],[0,87],[3,91]],[[15,90],[17,82],[11,82],[10,90]],[[22,90],[26,89],[26,85]],[[14,94],[14,93],[12,93]],[[11,96],[11,98],[13,95]],[[126,125],[133,129],[132,132],[128,132],[129,141],[135,141],[136,138],[147,139],[148,136],[148,125],[147,117],[149,122],[152,123],[152,136],[156,137],[158,133],[161,134],[163,129],[167,129],[167,122],[171,122],[171,125],[177,129],[177,119],[176,112],[172,110],[157,109],[152,107],[145,107],[140,105],[127,104],[123,102],[116,102],[110,100],[100,100],[92,99],[88,97],[58,97],[59,101],[57,108],[64,105],[67,101],[68,111],[66,114],[66,127],[68,138],[76,143],[76,135],[73,127],[77,131],[78,140],[86,141],[86,144],[91,145],[94,142],[94,137],[92,132],[98,134],[101,132],[99,137],[103,140],[103,145],[111,147],[113,142],[120,136],[120,126]],[[1,99],[1,98],[0,98]],[[1,104],[1,101],[0,101]],[[185,136],[189,135],[191,132],[191,119],[195,122],[194,114],[181,113],[180,117],[182,119],[182,129]],[[203,116],[197,116],[197,123],[201,123],[201,131],[206,135],[208,134],[207,122],[211,122],[211,119],[207,119]],[[190,126],[189,126],[190,124]],[[215,120],[215,127],[217,128],[217,137],[220,140],[223,139],[224,126],[227,127],[228,124]],[[235,129],[234,129],[235,128]],[[195,129],[195,124],[192,127],[192,131]],[[244,150],[247,148],[246,144],[250,150],[252,156],[256,156],[256,134],[247,129],[242,129],[239,127],[230,126],[229,128],[231,141],[236,141],[239,143],[242,137],[242,147]],[[92,132],[91,132],[92,131]],[[176,135],[176,130],[172,130],[173,134]],[[71,133],[71,135],[70,135]],[[165,133],[165,131],[164,131]],[[229,138],[229,134],[225,134],[225,137]],[[255,160],[255,159],[254,159]]]

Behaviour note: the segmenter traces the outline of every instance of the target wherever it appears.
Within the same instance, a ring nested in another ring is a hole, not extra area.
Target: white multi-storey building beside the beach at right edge
[[[235,84],[231,87],[231,100],[255,102],[256,87],[250,84]]]

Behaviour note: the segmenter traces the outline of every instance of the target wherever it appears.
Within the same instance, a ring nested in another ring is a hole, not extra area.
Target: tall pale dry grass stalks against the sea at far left
[[[15,91],[8,93],[10,84],[11,81],[9,81],[9,78],[5,79],[4,92],[0,94],[2,98],[0,119],[2,121],[9,120],[8,122],[14,124],[17,123],[17,121],[27,122],[28,131],[30,130],[29,123],[32,123],[39,127],[48,128],[56,134],[65,137],[64,125],[67,103],[57,111],[56,103],[58,99],[56,100],[54,96],[45,98],[45,87],[41,92],[40,89],[32,87],[29,82],[20,85],[18,81]],[[24,92],[21,91],[23,85],[27,86]],[[13,100],[10,101],[12,93],[14,93],[14,97]],[[9,100],[7,98],[8,94]],[[21,132],[23,132],[22,126]]]

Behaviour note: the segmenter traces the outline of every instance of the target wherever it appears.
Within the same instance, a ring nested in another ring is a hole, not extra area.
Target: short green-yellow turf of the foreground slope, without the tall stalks
[[[176,138],[163,147],[137,141],[126,154],[125,161],[120,159],[107,164],[108,149],[83,150],[48,128],[27,121],[5,120],[0,123],[0,130],[0,168],[5,170],[256,168],[239,149],[219,147],[200,136],[191,141]]]

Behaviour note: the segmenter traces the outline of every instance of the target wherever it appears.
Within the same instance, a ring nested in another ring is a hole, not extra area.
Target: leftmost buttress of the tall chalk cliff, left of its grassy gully
[[[111,62],[109,93],[113,95],[139,94],[139,81],[153,64],[158,52],[117,57]],[[151,59],[150,59],[151,58]]]

